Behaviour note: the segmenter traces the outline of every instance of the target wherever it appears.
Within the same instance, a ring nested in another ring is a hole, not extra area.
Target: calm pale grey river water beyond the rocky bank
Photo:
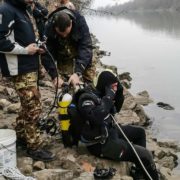
[[[133,94],[147,90],[154,99],[154,103],[144,108],[153,121],[155,137],[177,143],[180,143],[179,19],[180,13],[172,12],[119,17],[86,15],[90,31],[99,39],[101,49],[111,52],[102,62],[117,66],[119,73],[131,73]],[[161,109],[157,102],[168,103],[175,110]]]

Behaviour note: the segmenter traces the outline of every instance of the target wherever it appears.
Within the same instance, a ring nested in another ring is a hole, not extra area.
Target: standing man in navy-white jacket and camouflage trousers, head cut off
[[[26,11],[33,0],[5,0],[0,6],[0,67],[5,77],[11,77],[20,97],[21,111],[16,119],[18,143],[27,145],[27,154],[35,160],[51,161],[54,155],[44,150],[37,126],[41,113],[37,88],[38,54],[43,49],[35,44],[32,22]],[[43,62],[50,72],[55,66]],[[53,72],[54,79],[57,74]]]

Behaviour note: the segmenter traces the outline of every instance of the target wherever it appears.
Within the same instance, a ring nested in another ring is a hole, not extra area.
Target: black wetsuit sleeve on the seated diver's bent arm
[[[103,124],[112,107],[113,101],[108,96],[104,96],[98,104],[88,97],[80,97],[78,103],[78,108],[83,118],[94,125]]]

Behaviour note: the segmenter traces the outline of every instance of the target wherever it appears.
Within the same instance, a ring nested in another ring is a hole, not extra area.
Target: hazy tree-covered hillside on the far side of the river
[[[180,0],[134,0],[127,2],[123,5],[115,5],[106,7],[106,10],[120,14],[123,12],[133,11],[179,11],[180,12]]]

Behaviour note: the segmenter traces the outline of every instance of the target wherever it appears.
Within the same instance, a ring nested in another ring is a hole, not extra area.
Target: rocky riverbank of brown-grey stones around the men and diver
[[[100,51],[99,46],[97,46],[95,37],[93,39],[98,71],[104,68],[111,68],[117,72],[116,67],[109,67],[101,63],[100,58],[103,56],[103,51]],[[175,142],[158,142],[152,137],[151,130],[148,127],[149,118],[143,110],[143,105],[152,102],[148,92],[143,91],[133,96],[128,91],[131,85],[130,74],[120,74],[119,78],[125,87],[125,102],[121,112],[116,115],[117,121],[122,124],[144,126],[147,134],[147,147],[153,152],[157,168],[161,174],[161,180],[179,180],[180,176],[175,176],[172,170],[177,165],[176,154],[180,151],[180,148]],[[8,81],[1,77],[0,82],[0,128],[12,128],[11,124],[15,121],[20,107],[19,99]],[[40,91],[42,95],[43,112],[45,113],[49,110],[54,99],[54,88],[47,75],[40,81]],[[52,116],[57,118],[56,110],[52,112]],[[50,135],[43,134],[43,136],[47,142],[47,147],[56,154],[56,160],[49,163],[33,161],[26,156],[23,149],[17,148],[17,167],[24,175],[33,176],[37,180],[92,180],[94,179],[93,171],[95,167],[113,167],[117,170],[113,179],[132,179],[132,177],[129,176],[130,163],[113,162],[96,158],[86,151],[83,144],[80,144],[78,148],[65,149],[59,135],[51,137]],[[0,180],[1,179],[4,179],[4,177],[1,176]]]

